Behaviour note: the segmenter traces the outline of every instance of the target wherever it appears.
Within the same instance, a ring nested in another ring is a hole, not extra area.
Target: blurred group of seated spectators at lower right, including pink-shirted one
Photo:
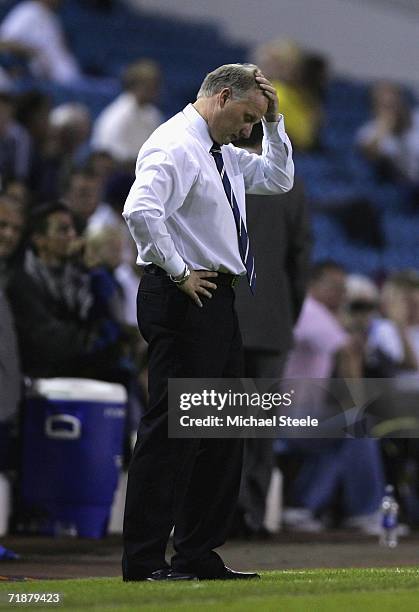
[[[294,329],[284,377],[325,381],[408,377],[408,388],[417,395],[418,297],[415,270],[390,274],[378,287],[367,277],[347,274],[337,262],[317,263]],[[302,406],[311,415],[325,418],[329,414],[327,384],[317,395],[308,382],[307,391],[310,395],[301,398]],[[295,458],[299,464],[286,482],[284,524],[313,532],[338,524],[377,534],[386,482],[398,487],[404,519],[416,524],[419,445],[414,439],[396,439],[400,432],[395,423],[382,441],[361,436],[276,443],[280,466],[286,468],[294,459],[295,468]]]

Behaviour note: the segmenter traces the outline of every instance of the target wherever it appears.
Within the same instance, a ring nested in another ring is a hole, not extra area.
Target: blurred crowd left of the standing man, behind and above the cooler
[[[79,102],[0,91],[0,472],[19,464],[24,382],[34,378],[123,385],[129,461],[147,364],[122,209],[137,152],[163,120],[159,85],[155,62],[127,66],[123,92],[95,121]]]

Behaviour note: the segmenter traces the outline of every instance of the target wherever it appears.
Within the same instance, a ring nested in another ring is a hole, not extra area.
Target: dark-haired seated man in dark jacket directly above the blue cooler
[[[39,209],[30,239],[33,250],[8,287],[24,374],[114,380],[119,330],[91,316],[91,279],[77,264],[81,243],[71,212],[59,202]]]

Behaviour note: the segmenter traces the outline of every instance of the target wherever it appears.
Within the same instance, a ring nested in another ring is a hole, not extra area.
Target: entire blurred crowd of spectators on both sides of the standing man
[[[0,53],[23,58],[35,77],[80,82],[88,77],[65,42],[59,4],[20,2],[0,24]],[[296,151],[321,149],[327,60],[288,40],[261,46],[255,57],[277,88]],[[121,213],[137,152],[163,121],[161,68],[148,58],[127,66],[122,93],[96,118],[79,102],[53,106],[41,90],[15,93],[13,77],[6,68],[0,74],[0,472],[17,465],[25,377],[119,382],[129,398],[127,432],[136,429],[147,401],[146,346],[136,326],[141,272]],[[418,111],[392,82],[374,84],[371,100],[371,120],[353,142],[374,172],[414,194]],[[370,279],[323,261],[301,273],[309,279],[307,295],[298,320],[289,317],[293,343],[278,372],[419,383],[418,271]],[[285,526],[320,531],[339,524],[374,533],[388,481],[398,487],[405,520],[419,521],[415,440],[317,442],[275,444]],[[242,519],[242,535],[263,533],[261,524]]]

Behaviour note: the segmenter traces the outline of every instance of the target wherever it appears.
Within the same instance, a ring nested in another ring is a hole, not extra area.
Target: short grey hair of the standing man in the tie
[[[197,98],[209,98],[229,87],[236,98],[245,98],[249,91],[259,89],[255,81],[256,64],[224,64],[216,68],[202,82]]]

